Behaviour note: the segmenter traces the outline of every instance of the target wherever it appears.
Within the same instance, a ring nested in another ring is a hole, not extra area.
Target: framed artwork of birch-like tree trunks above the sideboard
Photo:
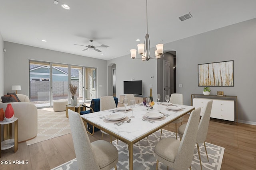
[[[198,86],[234,86],[234,60],[198,64]]]

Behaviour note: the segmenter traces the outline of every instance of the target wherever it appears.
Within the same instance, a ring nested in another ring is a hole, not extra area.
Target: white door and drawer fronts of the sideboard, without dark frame
[[[206,103],[209,100],[212,100],[212,111],[210,117],[233,122],[235,121],[234,100],[194,98],[193,106],[195,106],[195,108],[201,107],[200,115],[204,113]]]

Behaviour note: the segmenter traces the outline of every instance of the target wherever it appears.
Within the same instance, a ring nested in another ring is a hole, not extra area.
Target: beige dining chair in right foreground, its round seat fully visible
[[[200,110],[201,108],[199,107],[190,114],[182,141],[168,137],[156,144],[154,154],[156,157],[156,170],[158,169],[159,161],[174,170],[187,170],[188,167],[191,170]]]

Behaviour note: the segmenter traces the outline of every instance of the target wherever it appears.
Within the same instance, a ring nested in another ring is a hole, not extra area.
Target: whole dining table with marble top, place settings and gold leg
[[[168,106],[167,106],[168,104]],[[129,150],[129,169],[133,169],[133,144],[158,131],[172,121],[190,113],[194,106],[155,102],[152,108],[143,104],[135,107],[117,107],[81,115],[85,125],[98,129],[126,143]],[[129,120],[127,122],[127,120]]]

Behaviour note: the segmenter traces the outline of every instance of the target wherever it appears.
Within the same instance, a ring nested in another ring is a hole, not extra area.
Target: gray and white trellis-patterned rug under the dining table
[[[156,169],[156,158],[154,157],[154,147],[156,146],[156,143],[160,141],[160,132],[161,130],[156,131],[152,135],[148,136],[148,139],[145,138],[139,141],[138,145],[136,144],[133,145],[134,169],[136,170]],[[165,137],[176,138],[174,132],[168,133],[168,131],[163,129],[162,138],[165,138]],[[118,145],[116,144],[116,141],[113,141],[112,144],[116,146],[119,152],[117,169],[128,170],[129,169],[128,146],[119,140],[118,140]],[[209,162],[208,162],[204,145],[199,144],[199,147],[200,147],[203,170],[220,170],[225,148],[219,147],[217,145],[212,145],[210,143],[206,143],[206,148],[207,148],[207,153],[209,158]],[[191,168],[192,170],[201,169],[196,147],[194,150],[194,158],[192,160]],[[52,170],[76,170],[76,169],[78,169],[78,166],[75,158],[73,160],[70,160],[69,162],[66,162],[60,166],[57,166],[56,168],[53,168]],[[167,166],[159,162],[158,170],[166,170],[166,169],[167,169]]]

